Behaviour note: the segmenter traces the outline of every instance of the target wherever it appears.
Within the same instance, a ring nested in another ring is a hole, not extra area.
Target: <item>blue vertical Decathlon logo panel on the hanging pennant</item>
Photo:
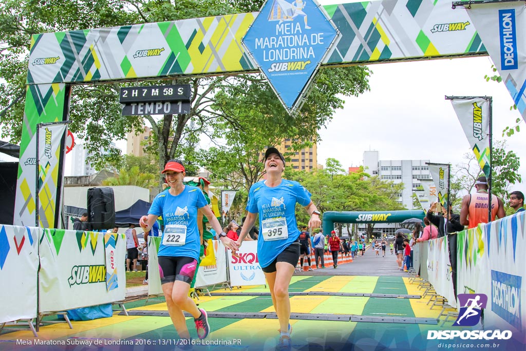
[[[517,69],[515,9],[499,10],[500,65],[503,71]]]

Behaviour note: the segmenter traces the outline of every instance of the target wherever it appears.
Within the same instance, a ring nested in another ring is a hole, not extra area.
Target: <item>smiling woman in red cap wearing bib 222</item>
[[[148,216],[141,217],[139,224],[147,232],[157,217],[163,216],[165,230],[161,237],[158,257],[168,313],[181,339],[190,338],[184,310],[194,317],[197,336],[204,339],[210,332],[207,314],[204,309],[197,308],[194,300],[188,297],[201,245],[197,227],[198,217],[205,215],[208,218],[216,233],[220,233],[219,238],[225,247],[235,252],[237,244],[222,231],[201,189],[183,184],[186,173],[181,161],[168,161],[162,173],[170,187],[155,197]],[[189,342],[185,345],[191,346]]]

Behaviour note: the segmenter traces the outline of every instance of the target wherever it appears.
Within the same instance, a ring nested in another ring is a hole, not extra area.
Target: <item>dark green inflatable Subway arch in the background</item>
[[[327,235],[334,230],[335,223],[401,223],[409,218],[423,219],[426,213],[421,209],[397,211],[327,211],[323,212],[321,227],[323,234]]]

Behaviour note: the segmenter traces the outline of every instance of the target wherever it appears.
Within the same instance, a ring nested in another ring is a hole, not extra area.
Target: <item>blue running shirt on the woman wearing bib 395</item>
[[[247,211],[259,214],[258,259],[261,267],[270,265],[290,244],[297,242],[299,229],[296,224],[296,203],[307,206],[310,193],[304,186],[292,180],[281,179],[281,184],[271,188],[264,182],[250,187]],[[270,218],[285,217],[288,238],[265,241],[262,222]]]

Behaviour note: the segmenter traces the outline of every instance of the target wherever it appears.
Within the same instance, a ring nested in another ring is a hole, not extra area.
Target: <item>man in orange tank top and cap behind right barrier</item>
[[[486,177],[479,177],[475,188],[477,193],[464,196],[460,210],[460,224],[467,225],[468,228],[474,228],[479,223],[488,223],[489,194]],[[491,194],[491,220],[495,220],[495,216],[503,218],[505,215],[502,200]]]

